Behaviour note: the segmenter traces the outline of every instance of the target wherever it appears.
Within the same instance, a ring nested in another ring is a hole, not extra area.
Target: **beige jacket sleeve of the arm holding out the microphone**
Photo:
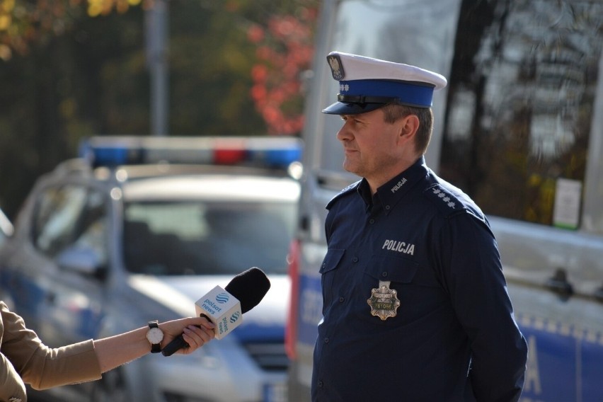
[[[101,378],[93,340],[48,348],[4,302],[0,314],[0,401],[24,393],[23,383],[46,389]]]

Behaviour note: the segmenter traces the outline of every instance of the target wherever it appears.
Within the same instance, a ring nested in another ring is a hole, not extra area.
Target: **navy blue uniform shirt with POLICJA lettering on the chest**
[[[481,210],[420,158],[329,202],[312,400],[516,401],[527,345]],[[389,281],[400,306],[367,300]]]

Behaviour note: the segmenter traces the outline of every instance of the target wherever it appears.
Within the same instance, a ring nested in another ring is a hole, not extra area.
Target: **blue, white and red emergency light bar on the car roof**
[[[301,161],[296,137],[89,137],[79,156],[92,166],[150,163],[250,165],[287,168]]]

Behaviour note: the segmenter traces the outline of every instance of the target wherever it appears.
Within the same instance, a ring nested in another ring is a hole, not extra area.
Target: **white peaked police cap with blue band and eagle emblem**
[[[366,113],[386,103],[430,108],[433,91],[447,84],[435,72],[357,54],[331,52],[327,62],[339,81],[338,101],[323,110],[331,115]]]

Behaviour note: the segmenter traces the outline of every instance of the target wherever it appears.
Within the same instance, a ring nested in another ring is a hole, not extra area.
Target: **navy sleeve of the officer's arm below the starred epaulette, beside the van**
[[[515,322],[490,228],[469,213],[449,217],[440,253],[445,286],[471,345],[473,394],[477,401],[517,401],[527,343]]]

